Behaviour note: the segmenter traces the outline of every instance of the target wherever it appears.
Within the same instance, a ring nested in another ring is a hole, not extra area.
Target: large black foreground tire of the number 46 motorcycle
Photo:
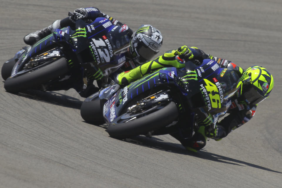
[[[129,122],[110,124],[108,133],[111,137],[125,139],[132,136],[147,134],[152,130],[160,129],[171,124],[178,117],[178,109],[174,102],[170,102],[164,108],[146,116]]]

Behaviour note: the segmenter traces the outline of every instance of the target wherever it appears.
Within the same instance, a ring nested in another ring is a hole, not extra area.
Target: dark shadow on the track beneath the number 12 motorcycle
[[[15,95],[26,97],[33,100],[38,100],[44,103],[50,103],[54,105],[64,106],[68,108],[79,109],[83,103],[77,98],[70,97],[68,95],[63,95],[61,93],[56,93],[53,91],[39,91],[39,90],[26,90]]]

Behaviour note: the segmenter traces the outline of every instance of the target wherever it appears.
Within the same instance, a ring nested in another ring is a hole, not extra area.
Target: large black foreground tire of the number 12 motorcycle
[[[8,78],[4,83],[7,92],[18,93],[23,90],[36,88],[50,80],[59,78],[69,71],[66,58],[60,58],[46,66],[27,72],[14,78]]]

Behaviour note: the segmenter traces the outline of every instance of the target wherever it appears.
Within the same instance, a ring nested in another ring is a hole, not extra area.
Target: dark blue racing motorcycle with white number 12
[[[130,41],[125,30],[102,17],[92,23],[78,20],[75,28],[55,29],[4,63],[1,69],[4,87],[11,93],[70,88],[80,92],[89,77],[98,80],[125,63]]]

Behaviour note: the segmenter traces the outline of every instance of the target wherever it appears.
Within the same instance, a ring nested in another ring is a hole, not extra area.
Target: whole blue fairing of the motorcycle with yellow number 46
[[[109,100],[108,105],[112,110],[105,112],[105,119],[111,122],[113,116],[121,115],[122,109],[131,99],[158,84],[166,83],[175,85],[187,99],[194,95],[198,96],[197,100],[201,99],[204,102],[202,102],[203,106],[198,108],[207,114],[221,115],[226,112],[230,106],[229,98],[234,95],[239,76],[231,69],[220,68],[216,61],[211,59],[205,59],[200,66],[194,66],[194,70],[190,70],[193,66],[187,66],[189,69],[186,67],[186,70],[174,67],[162,68],[118,90],[115,98]]]

